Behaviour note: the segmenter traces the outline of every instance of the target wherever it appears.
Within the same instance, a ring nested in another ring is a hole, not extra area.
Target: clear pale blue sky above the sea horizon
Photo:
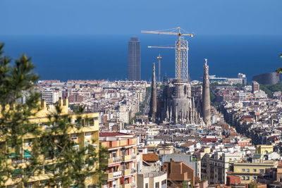
[[[281,0],[1,0],[0,35],[282,35]]]

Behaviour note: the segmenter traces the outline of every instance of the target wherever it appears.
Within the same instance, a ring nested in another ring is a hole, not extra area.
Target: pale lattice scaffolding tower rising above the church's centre
[[[180,39],[180,79],[188,80],[188,41],[183,37]],[[176,41],[176,78],[178,77],[178,40]]]

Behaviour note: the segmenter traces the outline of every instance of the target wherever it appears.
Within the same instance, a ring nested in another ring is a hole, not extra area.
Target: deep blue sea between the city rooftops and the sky
[[[174,46],[176,37],[162,35],[93,36],[0,36],[4,51],[11,58],[32,57],[42,80],[126,80],[128,41],[141,42],[142,80],[152,79],[152,63],[161,54],[161,76],[174,77],[175,50],[148,49],[147,46]],[[237,77],[274,72],[282,67],[282,36],[207,36],[195,35],[189,41],[189,73],[201,80],[204,58],[209,75]]]

